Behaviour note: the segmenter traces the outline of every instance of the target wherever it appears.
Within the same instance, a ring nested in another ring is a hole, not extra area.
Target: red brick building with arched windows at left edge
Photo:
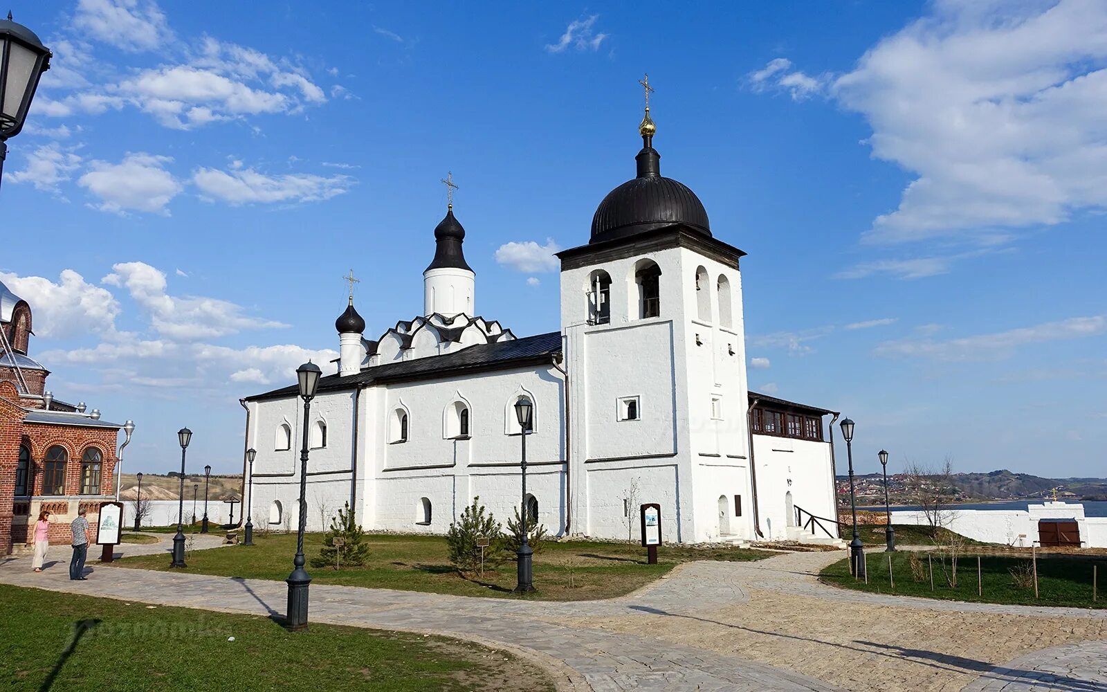
[[[46,390],[50,371],[28,355],[31,307],[0,283],[0,555],[32,540],[29,526],[51,512],[51,543],[69,543],[79,507],[95,528],[100,504],[115,498],[122,425]]]

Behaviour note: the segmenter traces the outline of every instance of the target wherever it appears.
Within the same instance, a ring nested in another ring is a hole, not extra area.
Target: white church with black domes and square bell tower
[[[659,503],[666,543],[837,538],[837,414],[749,392],[745,252],[661,176],[649,107],[640,133],[638,175],[600,203],[587,244],[558,254],[559,331],[476,317],[451,204],[423,314],[369,340],[351,297],[308,421],[294,386],[242,400],[255,526],[297,525],[304,425],[309,530],[349,502],[366,529],[443,534],[477,496],[506,523],[526,397],[527,505],[551,535],[637,540],[639,505]]]

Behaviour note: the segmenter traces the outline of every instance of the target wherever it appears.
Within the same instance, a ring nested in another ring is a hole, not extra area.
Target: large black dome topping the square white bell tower
[[[603,242],[666,226],[686,226],[711,235],[707,210],[686,185],[662,177],[661,154],[652,146],[652,135],[643,134],[645,146],[638,153],[638,177],[627,180],[603,198],[592,217],[589,242]]]

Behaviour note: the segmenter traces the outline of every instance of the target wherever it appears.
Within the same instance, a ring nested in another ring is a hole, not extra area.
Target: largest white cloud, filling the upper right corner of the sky
[[[1107,4],[944,0],[832,95],[915,175],[868,239],[1051,225],[1107,208]]]

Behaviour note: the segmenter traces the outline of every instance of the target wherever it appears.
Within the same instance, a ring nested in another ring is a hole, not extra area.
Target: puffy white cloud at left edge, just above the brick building
[[[37,337],[65,339],[115,331],[118,301],[111,291],[89,283],[72,269],[62,270],[56,283],[4,272],[0,272],[0,281],[31,306]]]

